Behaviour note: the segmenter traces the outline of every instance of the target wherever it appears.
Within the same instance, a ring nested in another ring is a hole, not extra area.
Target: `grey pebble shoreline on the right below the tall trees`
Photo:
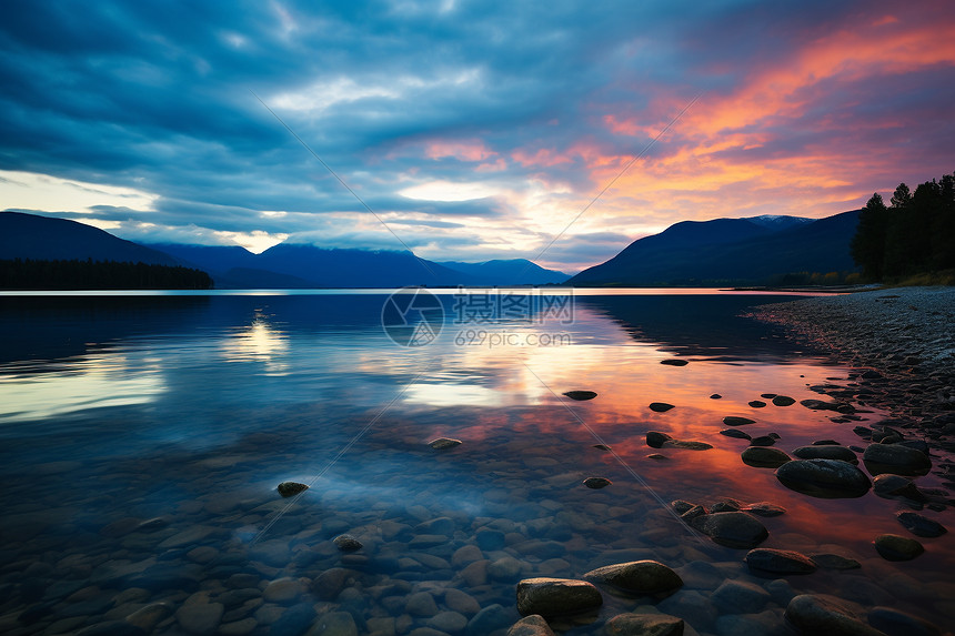
[[[836,398],[889,413],[955,452],[955,287],[897,287],[760,305],[752,317],[858,371]],[[889,422],[886,422],[886,424]]]

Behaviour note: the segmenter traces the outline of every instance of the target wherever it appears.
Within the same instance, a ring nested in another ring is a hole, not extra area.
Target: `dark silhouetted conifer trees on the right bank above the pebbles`
[[[888,205],[873,194],[860,214],[852,258],[873,281],[955,267],[955,173],[914,193],[899,183]]]

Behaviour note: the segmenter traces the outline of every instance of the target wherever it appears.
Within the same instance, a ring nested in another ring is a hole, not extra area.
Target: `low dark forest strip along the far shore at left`
[[[3,290],[208,290],[201,270],[115,261],[0,260]]]

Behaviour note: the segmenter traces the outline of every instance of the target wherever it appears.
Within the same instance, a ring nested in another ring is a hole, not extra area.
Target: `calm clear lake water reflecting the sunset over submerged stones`
[[[0,632],[504,634],[520,579],[643,558],[685,585],[604,590],[597,614],[553,625],[601,634],[639,610],[691,635],[787,634],[793,594],[825,593],[952,628],[951,535],[887,562],[872,541],[908,534],[898,502],[795,493],[720,434],[746,416],[791,452],[862,444],[853,426],[885,416],[798,404],[851,370],[741,317],[796,296],[526,293],[440,293],[406,329],[395,315],[420,301],[386,292],[0,296]],[[797,402],[748,404],[762,394]],[[713,448],[650,448],[647,431]],[[462,444],[428,445],[442,436]],[[285,481],[311,487],[282,498]],[[786,508],[761,519],[762,547],[862,567],[755,576],[668,505],[726,497]],[[338,549],[344,533],[364,547]],[[717,592],[727,581],[758,589]]]

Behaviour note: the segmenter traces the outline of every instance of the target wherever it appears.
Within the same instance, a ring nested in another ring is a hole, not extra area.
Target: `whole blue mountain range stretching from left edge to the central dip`
[[[539,285],[570,277],[525,259],[438,263],[408,251],[326,250],[295,243],[281,243],[261,254],[240,246],[140,245],[76,221],[19,212],[0,212],[2,259],[184,265],[208,272],[220,289]]]

